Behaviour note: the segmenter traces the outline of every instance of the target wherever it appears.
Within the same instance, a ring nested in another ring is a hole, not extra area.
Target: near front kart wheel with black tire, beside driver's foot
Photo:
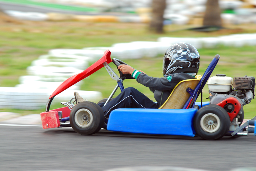
[[[80,102],[70,112],[70,124],[81,135],[92,135],[98,132],[104,124],[102,109],[93,102]]]

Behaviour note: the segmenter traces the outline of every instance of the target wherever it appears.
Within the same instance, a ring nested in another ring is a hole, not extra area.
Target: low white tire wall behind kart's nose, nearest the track
[[[0,108],[14,108],[23,110],[36,110],[45,107],[53,89],[31,88],[31,87],[1,87]],[[69,101],[74,97],[74,91],[87,100],[98,100],[102,98],[100,92],[81,91],[67,89],[58,94],[52,103]]]

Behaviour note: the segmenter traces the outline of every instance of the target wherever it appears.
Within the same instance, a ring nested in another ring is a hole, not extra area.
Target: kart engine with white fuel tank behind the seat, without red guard
[[[249,104],[252,99],[254,99],[254,89],[255,89],[255,78],[254,77],[226,77],[224,74],[217,74],[208,80],[209,88],[209,99],[210,104],[218,104],[229,97],[236,98],[241,104],[241,109],[236,113],[235,118],[231,121],[230,129],[236,129],[238,124],[241,125],[244,118],[243,106]],[[224,109],[228,114],[232,113],[235,109],[234,105],[227,104]],[[231,118],[231,117],[230,117]],[[237,121],[236,121],[236,118]],[[231,127],[234,128],[231,128]]]

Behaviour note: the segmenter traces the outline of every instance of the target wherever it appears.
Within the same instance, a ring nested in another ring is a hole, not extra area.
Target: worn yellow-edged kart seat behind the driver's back
[[[196,76],[196,79],[187,79],[180,81],[172,90],[168,99],[164,102],[159,109],[182,109],[188,101],[190,94],[187,88],[195,90],[196,85],[199,83],[202,76]]]

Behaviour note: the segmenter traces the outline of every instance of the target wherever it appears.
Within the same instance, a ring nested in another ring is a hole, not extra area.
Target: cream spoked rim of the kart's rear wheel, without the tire
[[[200,125],[206,132],[216,132],[220,128],[220,118],[213,113],[208,113],[201,118]]]

